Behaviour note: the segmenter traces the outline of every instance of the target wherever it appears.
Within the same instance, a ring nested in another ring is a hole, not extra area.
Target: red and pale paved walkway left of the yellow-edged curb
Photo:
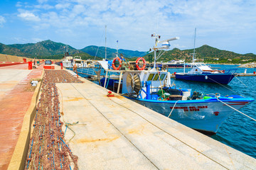
[[[28,70],[28,64],[0,68],[0,169],[7,169],[31,104],[30,79],[41,78],[43,64]]]

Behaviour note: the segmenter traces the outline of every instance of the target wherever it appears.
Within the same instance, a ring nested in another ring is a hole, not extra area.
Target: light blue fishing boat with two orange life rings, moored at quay
[[[176,89],[171,84],[171,73],[159,71],[156,60],[163,53],[156,57],[156,51],[169,49],[171,38],[160,41],[159,35],[152,35],[155,38],[155,45],[151,48],[154,51],[154,67],[145,70],[146,62],[143,57],[139,57],[136,62],[137,70],[123,67],[121,58],[115,58],[112,67],[102,61],[102,67],[106,71],[102,86],[112,87],[117,94],[146,106],[162,115],[165,115],[178,123],[193,128],[195,130],[215,134],[234,111],[246,106],[254,101],[252,98],[245,98],[238,95],[221,96],[220,94],[201,94],[191,91],[191,89]],[[161,47],[157,45],[163,43]],[[116,62],[116,61],[119,61]],[[140,64],[142,62],[142,64]],[[118,72],[119,79],[108,79],[108,72]],[[113,88],[114,87],[114,88]]]

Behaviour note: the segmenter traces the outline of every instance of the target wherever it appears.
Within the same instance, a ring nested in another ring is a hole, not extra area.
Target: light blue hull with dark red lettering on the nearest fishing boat
[[[165,116],[169,116],[176,103],[176,101],[131,99]],[[225,103],[235,109],[240,109],[251,101],[253,101],[253,99],[248,100],[248,98],[246,98],[245,101],[242,101],[242,98],[240,98],[240,100],[236,101],[232,99],[230,101],[225,101]],[[218,128],[220,128],[223,121],[235,111],[233,108],[226,106],[216,98],[210,99],[210,101],[203,99],[178,101],[170,118],[189,128],[214,134],[218,131]]]

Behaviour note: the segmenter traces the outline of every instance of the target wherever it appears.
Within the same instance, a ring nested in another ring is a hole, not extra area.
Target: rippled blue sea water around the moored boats
[[[239,68],[237,65],[211,64],[211,67],[220,67],[220,69],[225,70],[238,69],[238,73],[245,72],[245,69],[247,69],[247,73],[256,72],[256,69]],[[186,69],[186,72],[188,70]],[[169,72],[183,72],[183,69],[169,69]],[[177,88],[188,88],[192,89],[192,91],[200,91],[203,94],[220,93],[222,96],[238,94],[256,100],[256,77],[235,77],[228,85],[206,84],[176,79],[171,79],[171,81],[176,84]],[[240,111],[256,119],[256,101],[240,109]],[[217,134],[211,137],[256,158],[256,122],[241,113],[233,113],[233,115],[225,120]]]

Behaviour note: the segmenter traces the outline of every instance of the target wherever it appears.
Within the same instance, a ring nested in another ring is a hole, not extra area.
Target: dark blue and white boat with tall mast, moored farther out
[[[228,84],[235,77],[236,69],[225,70],[217,70],[211,69],[208,65],[203,62],[195,62],[196,53],[195,53],[195,45],[196,45],[196,29],[195,29],[195,38],[194,38],[194,49],[193,49],[193,62],[191,63],[192,69],[185,73],[180,72],[175,74],[176,79],[188,80],[188,81],[200,81],[206,83],[214,83],[214,84]]]

